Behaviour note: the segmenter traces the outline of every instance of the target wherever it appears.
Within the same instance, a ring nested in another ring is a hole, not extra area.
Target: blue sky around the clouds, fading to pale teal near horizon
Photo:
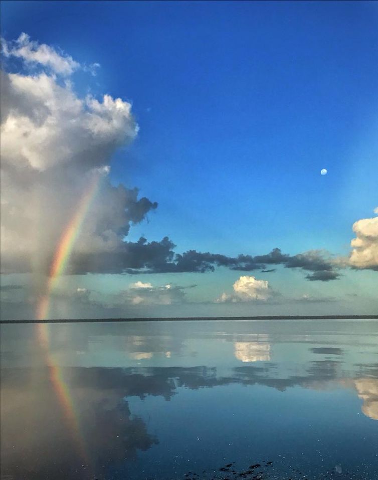
[[[228,256],[275,247],[349,255],[352,224],[378,205],[377,27],[373,2],[5,1],[1,19],[8,41],[26,32],[82,65],[98,62],[95,77],[73,75],[78,96],[107,93],[132,103],[140,130],[115,151],[110,179],[138,187],[158,208],[128,240],[168,236],[177,253]],[[186,296],[206,302],[250,274],[285,297],[335,297],[334,313],[350,289],[362,290],[358,307],[365,297],[368,308],[378,306],[371,269],[308,282],[282,267],[265,275],[221,267],[115,275],[102,288],[196,283]],[[95,289],[103,279],[67,282]],[[270,314],[272,306],[263,306]],[[263,306],[255,305],[259,314]],[[318,307],[311,302],[308,311]],[[196,308],[206,314],[209,306]],[[238,314],[251,305],[227,308]],[[285,308],[295,314],[297,307]]]

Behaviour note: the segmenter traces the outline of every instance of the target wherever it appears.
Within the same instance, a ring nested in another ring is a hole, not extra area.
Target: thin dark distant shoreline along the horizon
[[[156,318],[61,318],[54,320],[2,320],[2,324],[80,324],[114,322],[188,322],[216,320],[370,320],[378,315],[273,315],[273,316],[197,316]]]

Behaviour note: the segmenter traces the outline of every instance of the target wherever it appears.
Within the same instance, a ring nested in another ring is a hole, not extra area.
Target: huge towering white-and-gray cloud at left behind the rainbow
[[[24,60],[26,73],[2,72],[2,271],[47,271],[93,176],[102,180],[75,252],[122,248],[130,224],[156,208],[138,200],[137,189],[107,179],[113,152],[138,132],[131,104],[110,95],[80,98],[69,82],[49,73],[68,75],[77,62],[26,35],[5,42],[3,53]],[[28,71],[31,62],[39,64],[38,73]]]

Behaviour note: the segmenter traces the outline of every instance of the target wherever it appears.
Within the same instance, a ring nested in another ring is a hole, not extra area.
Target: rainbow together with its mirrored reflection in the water
[[[39,301],[36,314],[37,319],[41,321],[41,323],[37,324],[37,335],[49,369],[50,381],[58,397],[70,431],[75,437],[76,443],[80,450],[81,458],[85,461],[87,467],[89,467],[90,461],[86,452],[85,442],[81,434],[82,429],[80,428],[79,415],[76,412],[68,384],[64,379],[63,369],[56,363],[51,353],[50,326],[43,321],[49,317],[51,294],[54,291],[60,275],[62,275],[66,269],[67,262],[71,256],[75,241],[80,233],[81,227],[93,203],[96,193],[99,190],[102,178],[103,175],[100,173],[93,176],[93,179],[91,180],[87,190],[84,192],[79,202],[79,205],[77,206],[76,213],[68,223],[60,238],[58,246],[55,250],[53,261],[51,263],[46,291]]]

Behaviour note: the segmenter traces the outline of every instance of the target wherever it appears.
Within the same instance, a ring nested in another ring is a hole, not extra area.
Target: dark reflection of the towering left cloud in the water
[[[107,374],[106,369],[64,370],[89,452],[90,464],[83,465],[47,369],[20,369],[17,375],[2,369],[2,478],[89,480],[95,474],[105,479],[112,465],[157,443],[144,421],[131,414],[124,400],[127,385]]]

